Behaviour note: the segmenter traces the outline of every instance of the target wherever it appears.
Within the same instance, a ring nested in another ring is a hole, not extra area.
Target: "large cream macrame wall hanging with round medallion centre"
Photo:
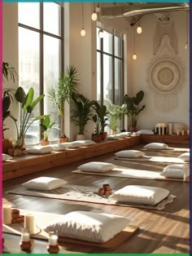
[[[185,68],[178,56],[174,22],[157,22],[153,57],[147,70],[147,82],[155,95],[155,106],[170,112],[178,106],[178,90],[184,84]]]

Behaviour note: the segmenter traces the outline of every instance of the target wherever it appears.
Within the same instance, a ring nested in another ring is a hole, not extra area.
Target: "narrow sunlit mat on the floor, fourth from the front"
[[[189,163],[189,161],[184,161],[178,157],[150,157],[150,156],[143,156],[137,158],[129,158],[129,157],[115,157],[117,160],[124,160],[124,161],[155,161],[155,162],[163,162],[163,163],[175,163],[175,164],[184,164]]]

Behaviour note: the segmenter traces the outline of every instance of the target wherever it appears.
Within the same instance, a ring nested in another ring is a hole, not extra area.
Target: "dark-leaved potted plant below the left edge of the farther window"
[[[103,135],[103,139],[107,138],[107,132],[105,132],[105,126],[107,126],[107,107],[105,105],[100,105],[98,104],[97,100],[93,100],[93,108],[95,110],[95,112],[98,115],[98,120],[100,121],[101,124],[101,133]]]

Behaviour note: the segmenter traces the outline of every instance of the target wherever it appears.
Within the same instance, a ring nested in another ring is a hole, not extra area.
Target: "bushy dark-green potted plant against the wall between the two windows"
[[[71,121],[79,126],[79,132],[76,139],[85,139],[85,126],[91,120],[91,106],[93,102],[79,93],[72,94],[72,100],[76,104],[76,109],[72,110]]]

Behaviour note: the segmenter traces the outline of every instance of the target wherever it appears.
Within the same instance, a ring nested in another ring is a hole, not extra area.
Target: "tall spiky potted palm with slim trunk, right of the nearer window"
[[[64,131],[64,104],[72,99],[72,94],[77,92],[78,78],[76,68],[72,65],[65,69],[59,77],[59,83],[56,87],[51,87],[47,90],[48,97],[58,110],[58,115],[61,118],[61,136],[59,142],[68,141]]]

